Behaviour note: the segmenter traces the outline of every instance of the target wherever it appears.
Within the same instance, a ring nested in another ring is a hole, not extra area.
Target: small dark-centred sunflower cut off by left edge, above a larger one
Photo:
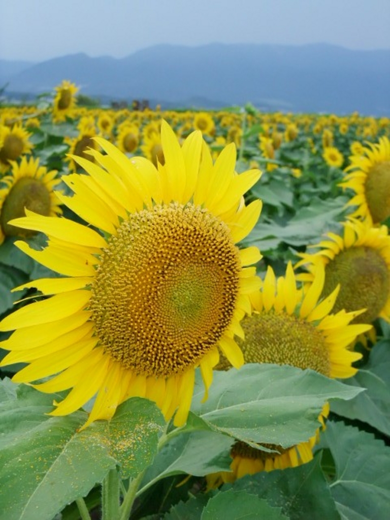
[[[15,124],[11,128],[0,126],[0,172],[7,172],[10,161],[16,161],[31,151],[33,145],[29,142],[30,136],[21,124]]]

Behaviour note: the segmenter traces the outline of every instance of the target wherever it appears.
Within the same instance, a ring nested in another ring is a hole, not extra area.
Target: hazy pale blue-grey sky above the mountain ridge
[[[390,48],[390,0],[0,0],[0,58],[122,58],[159,43]]]

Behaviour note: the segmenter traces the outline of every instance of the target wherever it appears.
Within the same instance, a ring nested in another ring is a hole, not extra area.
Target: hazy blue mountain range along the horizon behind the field
[[[122,59],[0,60],[0,87],[8,84],[9,97],[50,92],[64,79],[102,102],[148,99],[162,108],[206,109],[251,102],[263,110],[390,116],[390,50],[157,45]]]

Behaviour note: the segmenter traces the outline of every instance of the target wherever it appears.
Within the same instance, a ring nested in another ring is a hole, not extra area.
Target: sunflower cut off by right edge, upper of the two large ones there
[[[356,195],[347,203],[357,206],[353,217],[380,224],[390,216],[390,141],[381,137],[379,143],[368,144],[350,157],[347,175],[340,184]]]

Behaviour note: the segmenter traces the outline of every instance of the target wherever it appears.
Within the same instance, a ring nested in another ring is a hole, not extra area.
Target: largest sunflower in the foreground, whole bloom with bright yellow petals
[[[1,344],[10,350],[2,366],[30,363],[14,380],[35,382],[44,392],[71,388],[53,415],[71,413],[97,395],[87,425],[110,419],[125,399],[141,396],[157,402],[166,419],[177,410],[181,425],[194,369],[200,367],[207,394],[218,348],[233,366],[243,363],[234,336],[260,283],[255,268],[246,266],[261,255],[236,244],[261,212],[261,201],[243,203],[261,172],[236,174],[233,144],[213,164],[200,132],[180,147],[165,122],[165,164],[158,169],[95,140],[107,155],[92,151],[97,164],[73,157],[88,175],[64,176],[74,195],[58,194],[87,225],[31,212],[13,222],[46,233],[42,251],[17,245],[63,277],[23,286],[51,297],[0,323],[2,331],[16,329]],[[38,381],[47,376],[53,377]]]

